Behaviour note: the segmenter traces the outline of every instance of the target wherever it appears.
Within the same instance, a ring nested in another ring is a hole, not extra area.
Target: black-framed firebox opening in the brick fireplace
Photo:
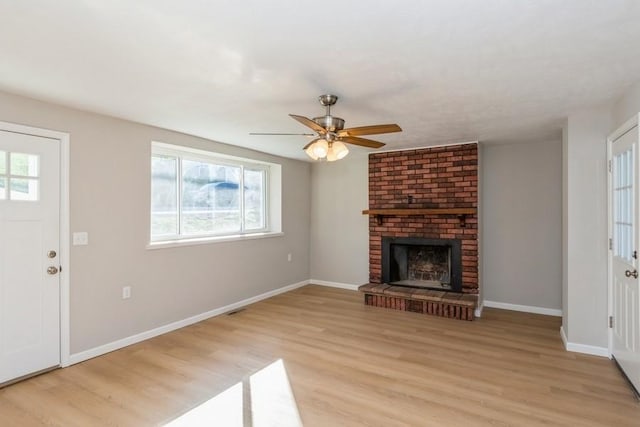
[[[462,292],[460,240],[383,237],[382,282]]]

